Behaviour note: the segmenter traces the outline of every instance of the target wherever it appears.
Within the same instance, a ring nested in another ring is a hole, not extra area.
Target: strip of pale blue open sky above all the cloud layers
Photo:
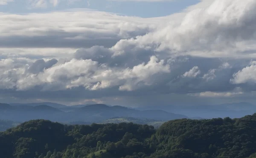
[[[0,0],[0,11],[14,14],[93,9],[127,16],[162,17],[199,0]]]

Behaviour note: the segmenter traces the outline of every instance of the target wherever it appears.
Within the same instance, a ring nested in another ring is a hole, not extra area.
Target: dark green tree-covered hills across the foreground
[[[256,115],[63,125],[32,120],[0,133],[1,158],[256,158]]]

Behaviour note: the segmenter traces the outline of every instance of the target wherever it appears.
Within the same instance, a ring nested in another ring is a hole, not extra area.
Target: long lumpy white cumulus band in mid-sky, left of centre
[[[46,64],[44,61],[43,63]],[[48,63],[47,65],[49,65]],[[52,63],[50,66],[53,64],[55,63]],[[36,65],[40,66],[38,62]],[[26,90],[44,85],[44,90],[56,91],[78,86],[84,86],[85,89],[90,90],[119,86],[120,90],[131,91],[140,88],[140,86],[150,86],[153,84],[154,75],[169,73],[169,66],[164,65],[163,60],[158,60],[154,56],[150,58],[148,63],[141,63],[132,69],[111,69],[107,66],[99,65],[96,61],[76,59],[50,66],[43,71],[41,68],[40,70],[33,69],[38,74],[27,73],[23,78],[17,80],[13,87],[16,86],[19,90]],[[29,68],[28,71],[30,71]],[[26,69],[23,68],[23,73],[25,71]]]

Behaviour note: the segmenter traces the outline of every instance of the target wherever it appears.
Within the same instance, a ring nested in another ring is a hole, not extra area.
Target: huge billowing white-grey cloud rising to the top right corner
[[[173,55],[202,57],[238,57],[251,51],[251,42],[256,40],[256,23],[253,22],[256,14],[251,14],[256,1],[215,0],[206,4],[204,8],[200,4],[198,8],[194,6],[183,17],[166,23],[157,31],[122,44],[136,43]]]

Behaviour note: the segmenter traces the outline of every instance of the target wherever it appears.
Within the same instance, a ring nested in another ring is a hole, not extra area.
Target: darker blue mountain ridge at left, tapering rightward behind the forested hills
[[[55,108],[52,106],[57,106]],[[68,112],[65,108],[72,108]],[[6,104],[0,103],[0,119],[11,121],[29,121],[32,119],[47,119],[69,123],[74,121],[99,122],[113,117],[133,117],[138,119],[154,119],[161,121],[188,118],[186,115],[165,112],[163,110],[137,110],[123,106],[107,106],[93,104],[85,106],[60,106],[60,104]]]

